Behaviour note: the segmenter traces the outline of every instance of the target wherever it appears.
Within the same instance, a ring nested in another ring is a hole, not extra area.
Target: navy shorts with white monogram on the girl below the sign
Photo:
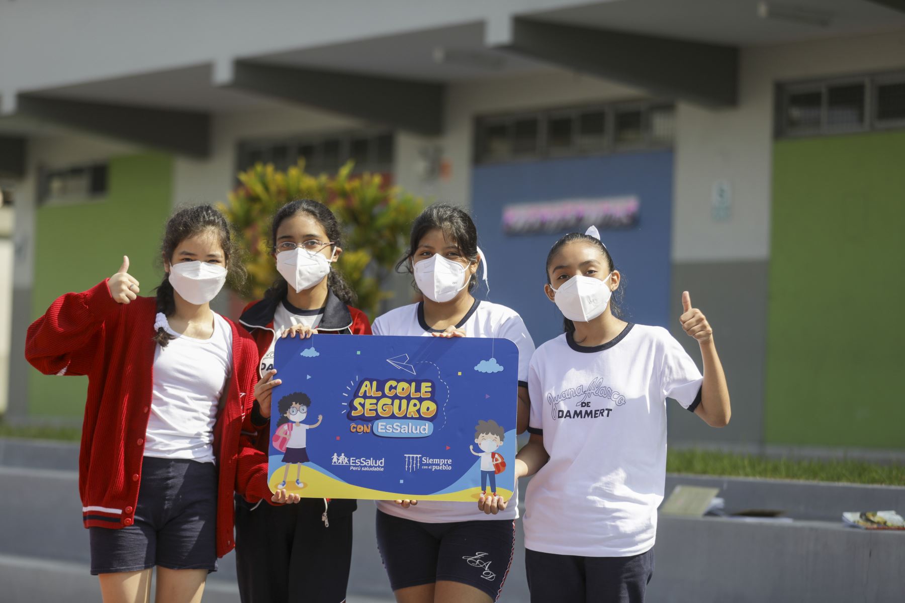
[[[495,601],[512,563],[515,522],[424,523],[378,510],[377,547],[394,590],[450,580]]]

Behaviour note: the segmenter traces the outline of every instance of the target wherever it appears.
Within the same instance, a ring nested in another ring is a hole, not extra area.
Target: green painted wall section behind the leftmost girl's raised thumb
[[[162,273],[156,263],[161,229],[173,206],[173,159],[142,154],[110,159],[107,197],[43,206],[35,215],[33,318],[67,291],[83,291],[108,278],[122,256],[150,295]],[[30,368],[32,416],[81,417],[87,377],[45,376]]]

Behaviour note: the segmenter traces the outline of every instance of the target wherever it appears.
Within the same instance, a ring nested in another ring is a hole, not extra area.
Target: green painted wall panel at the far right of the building
[[[773,170],[767,443],[905,448],[905,133],[783,140]]]

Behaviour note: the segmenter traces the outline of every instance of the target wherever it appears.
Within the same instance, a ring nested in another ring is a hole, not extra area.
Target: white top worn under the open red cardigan
[[[154,390],[145,456],[214,462],[214,423],[233,367],[233,329],[214,313],[214,334],[176,339],[154,351]]]

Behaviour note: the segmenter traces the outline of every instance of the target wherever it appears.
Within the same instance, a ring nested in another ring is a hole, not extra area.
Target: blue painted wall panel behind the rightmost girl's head
[[[512,203],[623,196],[640,203],[637,221],[630,228],[600,229],[600,234],[623,276],[624,319],[667,326],[672,151],[474,167],[472,216],[491,267],[491,293],[486,298],[516,310],[535,344],[562,333],[562,315],[544,295],[544,264],[550,246],[567,231],[506,234],[503,208]]]

